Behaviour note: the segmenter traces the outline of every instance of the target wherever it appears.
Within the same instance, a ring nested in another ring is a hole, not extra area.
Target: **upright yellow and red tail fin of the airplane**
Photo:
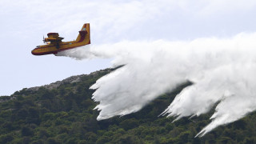
[[[85,45],[90,44],[90,23],[85,23],[79,31],[76,42],[82,42]]]

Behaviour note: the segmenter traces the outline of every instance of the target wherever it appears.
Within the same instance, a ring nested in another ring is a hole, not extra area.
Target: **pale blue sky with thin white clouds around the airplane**
[[[122,41],[190,41],[256,32],[256,1],[1,0],[0,95],[111,66],[111,58],[34,56],[43,35],[74,40],[90,23],[91,46]]]

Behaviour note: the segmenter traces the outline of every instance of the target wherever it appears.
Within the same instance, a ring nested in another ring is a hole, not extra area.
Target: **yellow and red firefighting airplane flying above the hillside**
[[[90,44],[90,23],[85,23],[82,30],[79,31],[78,38],[75,41],[62,42],[62,37],[58,33],[48,33],[48,38],[43,38],[46,45],[37,46],[31,51],[34,55],[57,54],[63,50],[74,49],[78,46],[85,46]]]

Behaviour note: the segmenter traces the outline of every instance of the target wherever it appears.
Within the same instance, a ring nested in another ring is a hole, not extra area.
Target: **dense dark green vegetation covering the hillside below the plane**
[[[137,113],[98,122],[91,100],[94,90],[89,87],[107,73],[85,75],[80,82],[66,82],[53,90],[23,89],[0,97],[0,143],[256,143],[256,114],[202,138],[194,136],[210,122],[213,111],[177,122],[158,117],[184,86]]]

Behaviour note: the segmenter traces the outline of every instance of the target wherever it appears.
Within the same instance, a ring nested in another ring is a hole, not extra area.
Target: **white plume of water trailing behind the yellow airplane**
[[[256,109],[256,34],[199,38],[191,42],[118,42],[69,50],[72,58],[114,58],[118,70],[91,86],[98,120],[141,110],[183,82],[194,82],[162,113],[176,120],[206,114],[212,122],[197,136],[234,122]]]

